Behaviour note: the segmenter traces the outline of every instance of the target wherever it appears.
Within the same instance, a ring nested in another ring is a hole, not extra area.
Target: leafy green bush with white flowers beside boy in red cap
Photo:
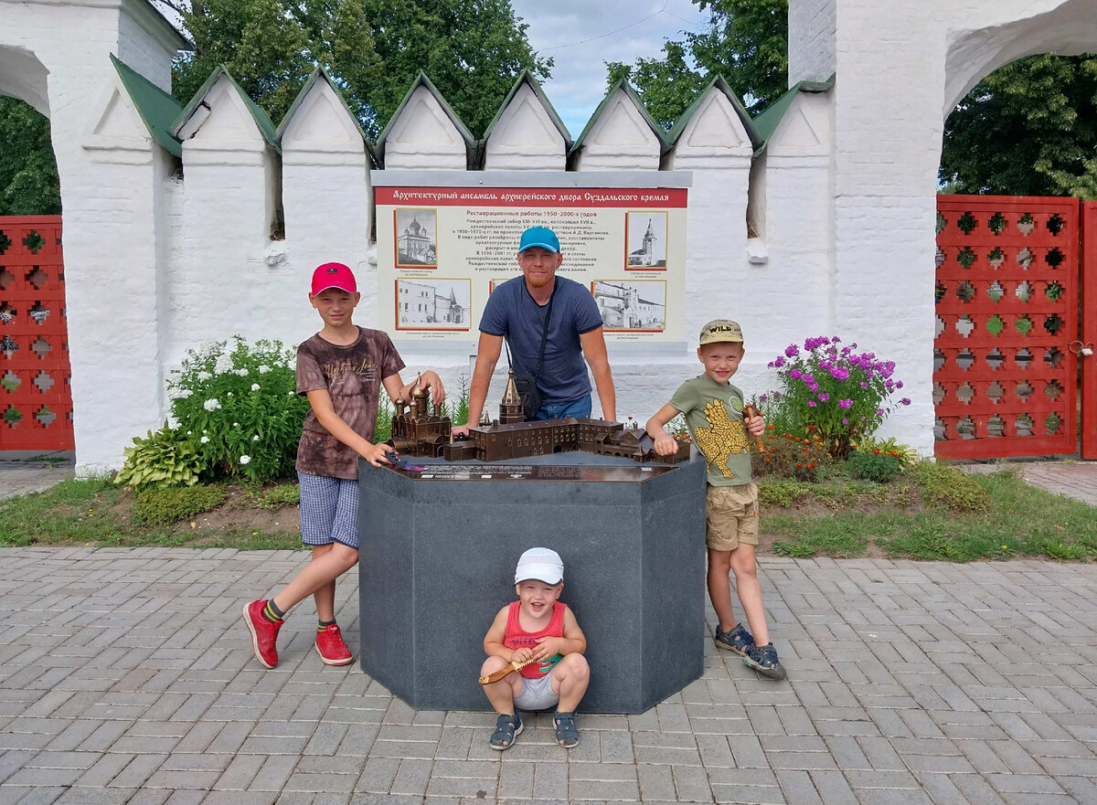
[[[207,475],[262,484],[293,474],[308,400],[296,394],[296,358],[279,341],[207,342],[168,376],[176,428]]]

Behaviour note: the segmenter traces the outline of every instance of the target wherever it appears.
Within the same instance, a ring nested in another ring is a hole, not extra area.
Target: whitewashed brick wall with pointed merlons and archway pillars
[[[163,418],[162,378],[188,348],[240,332],[294,344],[317,329],[313,268],[341,260],[376,321],[370,159],[326,80],[262,136],[229,82],[185,132],[182,168],[148,136],[108,54],[166,86],[178,39],[137,0],[0,0],[0,91],[50,114],[65,207],[77,460],[118,466],[132,435]],[[738,376],[768,390],[765,364],[791,341],[838,335],[894,360],[915,400],[887,432],[932,450],[934,222],[943,116],[1009,59],[1097,48],[1097,0],[792,0],[800,93],[754,156],[726,98],[705,99],[669,150],[621,90],[573,169],[692,172],[687,338],[672,353],[611,345],[619,417],[646,418],[700,371],[695,330],[734,316]],[[48,76],[48,79],[47,79]],[[564,143],[528,89],[486,144],[491,167],[565,169]],[[523,154],[523,137],[538,147]],[[386,168],[464,171],[468,143],[420,84],[386,132]],[[532,174],[531,174],[532,177]],[[475,183],[475,174],[470,174]],[[747,207],[756,237],[747,238]],[[272,239],[278,211],[284,239]],[[471,350],[470,350],[471,351]],[[455,389],[464,352],[406,354]],[[502,370],[489,393],[501,393]]]

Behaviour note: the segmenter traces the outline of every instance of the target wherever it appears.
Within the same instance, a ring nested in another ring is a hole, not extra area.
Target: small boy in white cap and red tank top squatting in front
[[[509,749],[522,732],[519,707],[556,707],[556,741],[566,749],[579,744],[575,708],[587,692],[590,667],[583,656],[587,638],[568,605],[557,600],[563,589],[564,562],[555,551],[530,548],[518,559],[518,600],[499,610],[484,636],[488,657],[480,669],[483,676],[511,664],[525,664],[484,685],[499,714],[491,734],[493,749]]]

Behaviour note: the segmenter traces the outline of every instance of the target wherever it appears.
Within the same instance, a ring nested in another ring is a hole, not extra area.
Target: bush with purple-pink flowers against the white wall
[[[840,343],[837,336],[819,336],[805,340],[802,350],[790,344],[768,364],[778,370],[781,389],[759,401],[768,404],[768,421],[779,420],[795,432],[814,426],[828,452],[846,457],[852,444],[874,432],[896,406],[908,406],[911,400],[892,400],[903,388],[902,381],[893,377],[894,362],[857,352],[856,343]]]

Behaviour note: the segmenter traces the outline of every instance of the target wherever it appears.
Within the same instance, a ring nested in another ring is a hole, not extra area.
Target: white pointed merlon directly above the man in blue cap
[[[488,128],[485,170],[564,170],[568,141],[529,83],[522,83]]]

